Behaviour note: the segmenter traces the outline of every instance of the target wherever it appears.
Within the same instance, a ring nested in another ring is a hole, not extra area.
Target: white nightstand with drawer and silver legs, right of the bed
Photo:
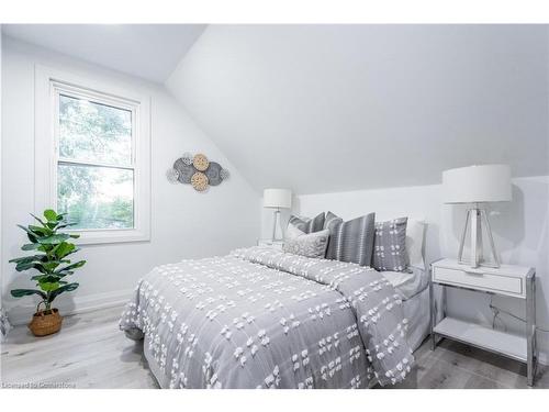
[[[442,288],[442,320],[437,323],[434,285]],[[522,299],[526,304],[526,334],[515,335],[446,315],[446,288],[460,288]],[[536,345],[536,269],[502,265],[500,268],[471,268],[453,259],[430,265],[430,336],[432,349],[437,336],[462,342],[527,365],[528,386],[534,385],[538,360]]]

